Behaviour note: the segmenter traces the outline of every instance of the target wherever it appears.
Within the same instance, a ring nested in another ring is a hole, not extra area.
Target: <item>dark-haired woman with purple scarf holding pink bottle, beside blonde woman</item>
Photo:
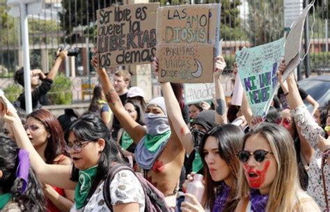
[[[203,203],[199,204],[196,197],[185,194],[193,203],[182,202],[182,211],[235,210],[239,201],[236,197],[239,171],[236,153],[241,149],[243,136],[242,129],[233,124],[215,126],[206,133],[200,146],[206,175]]]

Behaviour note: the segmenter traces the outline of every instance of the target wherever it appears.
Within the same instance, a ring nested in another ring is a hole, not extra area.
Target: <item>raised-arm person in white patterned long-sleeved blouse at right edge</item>
[[[281,69],[279,69],[279,82],[282,80],[281,73],[285,68],[283,66]],[[311,195],[311,197],[315,199],[321,209],[326,209],[326,207],[330,206],[330,195],[324,195],[327,191],[330,190],[330,168],[327,165],[324,166],[323,177],[321,160],[322,158],[329,157],[330,153],[329,149],[327,148],[319,148],[322,137],[324,137],[324,130],[314,121],[313,116],[308,112],[303,100],[299,96],[299,89],[294,79],[294,75],[289,75],[289,77],[286,79],[286,82],[288,83],[287,100],[291,109],[291,115],[295,123],[297,123],[297,127],[299,128],[302,137],[304,137],[304,140],[307,142],[307,144],[304,144],[304,148],[310,149],[310,151],[308,151],[309,154],[307,155],[307,162],[309,164],[307,192],[309,195]],[[302,145],[303,144],[301,144],[301,146]],[[306,158],[306,156],[304,157]],[[324,178],[323,181],[322,178]],[[324,196],[326,196],[326,199]]]

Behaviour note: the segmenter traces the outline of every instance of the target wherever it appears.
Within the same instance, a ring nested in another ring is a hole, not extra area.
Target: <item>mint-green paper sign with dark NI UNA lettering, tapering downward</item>
[[[285,39],[236,53],[239,79],[254,116],[265,116],[277,89],[276,71],[284,54]]]

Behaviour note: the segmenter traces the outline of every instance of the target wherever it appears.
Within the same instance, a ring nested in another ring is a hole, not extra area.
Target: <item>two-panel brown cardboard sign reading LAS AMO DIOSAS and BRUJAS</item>
[[[180,5],[157,12],[159,82],[212,82],[220,4]]]

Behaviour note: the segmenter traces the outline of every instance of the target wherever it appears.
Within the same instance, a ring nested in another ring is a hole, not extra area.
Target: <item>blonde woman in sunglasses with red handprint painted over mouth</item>
[[[320,211],[299,185],[297,160],[288,130],[260,123],[244,137],[237,153],[239,171],[236,211]]]

